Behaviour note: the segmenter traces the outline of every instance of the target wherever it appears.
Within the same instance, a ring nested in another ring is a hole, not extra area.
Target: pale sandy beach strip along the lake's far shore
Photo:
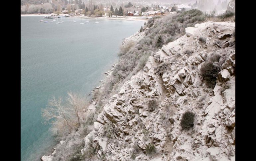
[[[43,16],[51,16],[52,14],[22,14],[21,17],[43,17]],[[66,14],[60,14],[60,16],[65,16]],[[108,16],[103,16],[103,17],[94,17],[94,16],[72,16],[72,17],[77,17],[77,18],[84,18],[84,19],[108,19],[108,20],[126,20],[126,21],[140,21],[140,22],[148,22],[148,19],[152,18],[152,16],[121,16],[121,17],[108,17]],[[147,18],[147,19],[146,19]]]

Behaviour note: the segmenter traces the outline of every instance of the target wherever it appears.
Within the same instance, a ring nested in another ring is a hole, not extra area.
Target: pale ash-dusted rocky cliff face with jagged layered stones
[[[92,146],[99,160],[235,160],[234,29],[196,24],[150,56],[104,106],[81,153]],[[222,60],[214,88],[200,73],[212,54]],[[186,111],[195,119],[182,130]]]

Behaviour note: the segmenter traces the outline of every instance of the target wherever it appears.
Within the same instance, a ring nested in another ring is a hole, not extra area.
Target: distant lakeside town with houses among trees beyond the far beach
[[[51,0],[50,0],[51,2]],[[204,4],[205,3],[205,4]],[[96,16],[96,17],[121,17],[121,16],[156,16],[165,15],[174,11],[185,11],[190,9],[205,9],[208,1],[199,1],[193,4],[169,4],[162,5],[139,5],[135,6],[131,2],[121,5],[93,4],[82,2],[81,0],[64,0],[64,4],[60,3],[41,3],[38,5],[28,4],[21,6],[21,14],[50,14],[45,18],[70,17],[70,16]],[[110,3],[111,4],[111,3]],[[218,2],[218,10],[226,8],[227,1]],[[211,10],[211,8],[208,8]]]

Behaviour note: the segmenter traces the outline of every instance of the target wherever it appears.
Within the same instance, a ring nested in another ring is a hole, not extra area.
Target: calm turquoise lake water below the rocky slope
[[[143,22],[21,17],[21,161],[40,161],[56,144],[41,109],[53,96],[88,95],[112,68],[123,38]],[[60,20],[60,19],[59,19]],[[77,23],[72,23],[73,21]],[[81,21],[89,21],[80,25]],[[94,22],[98,21],[98,24]]]

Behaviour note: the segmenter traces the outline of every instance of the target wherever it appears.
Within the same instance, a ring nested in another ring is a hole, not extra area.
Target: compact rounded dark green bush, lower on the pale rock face
[[[190,129],[194,126],[194,117],[195,117],[195,114],[189,111],[186,111],[182,115],[181,127],[183,130]]]

